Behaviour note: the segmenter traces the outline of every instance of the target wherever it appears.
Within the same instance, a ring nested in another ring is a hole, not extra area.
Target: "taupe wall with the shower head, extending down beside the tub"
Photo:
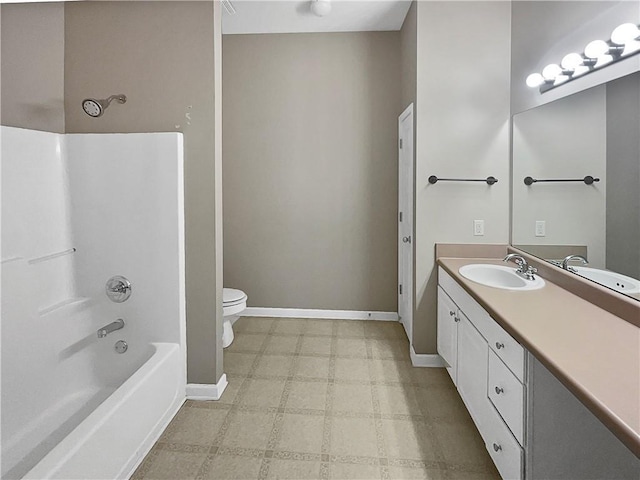
[[[67,131],[184,133],[190,383],[216,383],[222,371],[213,8],[213,2],[78,2],[65,9]],[[112,104],[100,118],[83,113],[83,98],[116,93],[127,95],[125,105]]]

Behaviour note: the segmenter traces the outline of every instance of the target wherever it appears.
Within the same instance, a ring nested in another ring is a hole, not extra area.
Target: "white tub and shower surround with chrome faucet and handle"
[[[1,128],[1,476],[126,478],[185,398],[182,135]]]

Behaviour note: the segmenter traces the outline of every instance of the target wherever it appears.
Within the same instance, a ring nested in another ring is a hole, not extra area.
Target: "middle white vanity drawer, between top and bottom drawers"
[[[520,445],[524,443],[524,385],[489,350],[489,398]]]

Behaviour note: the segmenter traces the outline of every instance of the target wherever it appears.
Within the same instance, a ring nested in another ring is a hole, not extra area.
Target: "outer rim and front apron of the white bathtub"
[[[126,479],[185,399],[185,357],[174,343],[153,343],[152,356],[25,479]]]

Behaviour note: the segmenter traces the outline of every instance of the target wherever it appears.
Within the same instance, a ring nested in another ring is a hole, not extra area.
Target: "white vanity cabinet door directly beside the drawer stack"
[[[480,433],[487,423],[489,346],[469,319],[460,312],[458,323],[458,392]],[[483,435],[484,437],[484,435]]]

